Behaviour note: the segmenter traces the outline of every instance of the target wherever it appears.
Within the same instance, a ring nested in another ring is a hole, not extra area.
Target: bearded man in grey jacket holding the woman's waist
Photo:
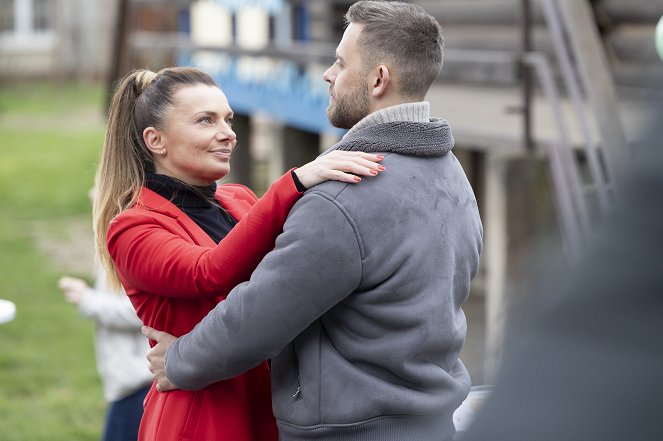
[[[445,440],[470,387],[461,305],[482,227],[449,126],[423,101],[441,29],[401,2],[360,1],[346,20],[324,74],[329,120],[350,129],[332,149],[383,153],[387,171],[307,191],[251,280],[191,333],[146,330],[161,341],[152,370],[161,390],[198,389],[271,358],[283,440]]]

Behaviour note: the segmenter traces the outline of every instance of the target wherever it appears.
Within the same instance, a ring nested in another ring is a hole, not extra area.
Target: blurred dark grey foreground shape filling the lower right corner
[[[531,287],[538,304],[461,441],[663,439],[662,133],[634,150],[624,197],[578,264]]]

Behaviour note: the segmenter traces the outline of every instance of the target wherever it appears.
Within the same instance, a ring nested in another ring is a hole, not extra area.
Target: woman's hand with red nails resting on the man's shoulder
[[[334,150],[299,167],[295,174],[306,188],[329,180],[355,184],[361,182],[360,176],[375,176],[384,171],[379,164],[383,159],[382,155]]]

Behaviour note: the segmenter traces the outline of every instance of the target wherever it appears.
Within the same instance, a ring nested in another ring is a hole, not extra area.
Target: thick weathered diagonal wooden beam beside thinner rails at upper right
[[[619,181],[632,160],[621,118],[617,93],[605,49],[588,0],[558,0],[571,41],[585,93],[603,140],[609,180],[618,190]]]

